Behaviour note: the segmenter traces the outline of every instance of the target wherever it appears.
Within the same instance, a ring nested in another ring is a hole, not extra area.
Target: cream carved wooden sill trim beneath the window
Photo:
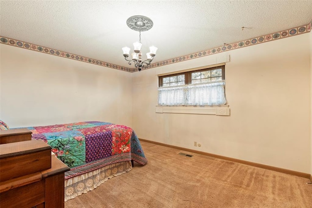
[[[219,106],[156,106],[156,113],[231,115],[229,105]]]

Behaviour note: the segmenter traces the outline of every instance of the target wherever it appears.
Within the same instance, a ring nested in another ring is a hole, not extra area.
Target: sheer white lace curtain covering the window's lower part
[[[158,88],[158,105],[224,105],[225,81]]]

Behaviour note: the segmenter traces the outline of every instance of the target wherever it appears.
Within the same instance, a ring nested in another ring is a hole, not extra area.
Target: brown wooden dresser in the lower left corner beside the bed
[[[64,173],[70,169],[49,145],[27,135],[0,144],[0,208],[64,208]]]

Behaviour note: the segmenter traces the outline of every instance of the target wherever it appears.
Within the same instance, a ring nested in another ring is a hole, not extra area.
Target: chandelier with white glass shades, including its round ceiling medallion
[[[138,69],[138,71],[141,71],[144,68],[147,68],[148,65],[151,64],[153,61],[157,48],[155,46],[150,47],[150,52],[146,54],[146,60],[142,60],[142,53],[141,53],[141,32],[148,31],[153,27],[153,21],[147,17],[144,16],[132,16],[127,19],[127,25],[130,29],[138,31],[139,32],[139,41],[133,43],[134,46],[134,53],[131,54],[132,60],[127,59],[130,54],[130,48],[124,47],[122,48],[123,56],[125,57],[126,61],[128,61],[129,65],[131,65],[131,62],[134,62],[135,67]]]

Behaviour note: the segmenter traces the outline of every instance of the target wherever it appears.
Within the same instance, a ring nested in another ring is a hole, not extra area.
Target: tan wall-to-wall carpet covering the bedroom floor
[[[141,142],[149,162],[65,208],[312,208],[307,178]]]

